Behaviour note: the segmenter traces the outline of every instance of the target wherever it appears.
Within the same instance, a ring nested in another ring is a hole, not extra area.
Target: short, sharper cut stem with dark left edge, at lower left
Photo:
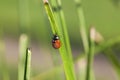
[[[24,80],[30,80],[30,71],[31,71],[30,67],[31,67],[31,50],[28,48],[26,50]]]

